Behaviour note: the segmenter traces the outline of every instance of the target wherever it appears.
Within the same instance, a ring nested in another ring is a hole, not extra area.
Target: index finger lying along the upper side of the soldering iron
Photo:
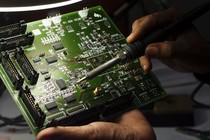
[[[127,42],[131,43],[139,38],[142,38],[146,35],[146,33],[150,33],[156,28],[164,27],[177,19],[180,15],[180,10],[172,7],[136,20],[132,25],[131,34],[127,37]]]

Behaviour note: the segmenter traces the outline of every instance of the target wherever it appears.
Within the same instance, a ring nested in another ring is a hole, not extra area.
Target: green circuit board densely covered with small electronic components
[[[32,132],[109,121],[165,96],[139,60],[77,81],[126,44],[102,7],[0,27],[0,77]]]

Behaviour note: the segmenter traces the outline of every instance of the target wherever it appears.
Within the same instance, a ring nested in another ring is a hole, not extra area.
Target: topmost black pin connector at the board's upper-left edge
[[[0,38],[24,34],[26,32],[27,24],[24,20],[19,23],[14,23],[0,27]]]

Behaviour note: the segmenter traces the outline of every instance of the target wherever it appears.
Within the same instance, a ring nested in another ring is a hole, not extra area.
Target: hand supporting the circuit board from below
[[[93,122],[83,126],[51,127],[42,130],[36,140],[155,140],[155,134],[143,114],[135,109],[111,122]]]

